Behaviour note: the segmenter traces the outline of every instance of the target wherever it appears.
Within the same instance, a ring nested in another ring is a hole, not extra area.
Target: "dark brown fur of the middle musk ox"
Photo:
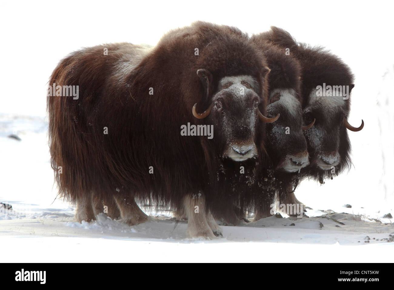
[[[275,104],[278,99],[271,92],[275,89],[292,89],[300,104],[303,103],[301,94],[301,65],[288,55],[285,50],[273,45],[265,39],[264,34],[252,37],[253,41],[267,58],[269,68],[269,102]],[[277,196],[279,203],[294,191],[298,183],[298,172],[283,172],[281,168],[277,170],[282,158],[287,154],[297,154],[307,150],[307,142],[301,130],[302,111],[301,106],[296,114],[291,114],[286,108],[270,105],[267,109],[268,116],[275,116],[280,113],[281,118],[274,123],[266,124],[266,148],[270,160],[269,167],[260,179],[260,195],[256,195],[255,219],[268,217],[271,215],[271,204],[274,204]],[[284,131],[279,137],[275,127],[289,127],[291,134],[286,135]],[[302,169],[301,169],[302,170]]]

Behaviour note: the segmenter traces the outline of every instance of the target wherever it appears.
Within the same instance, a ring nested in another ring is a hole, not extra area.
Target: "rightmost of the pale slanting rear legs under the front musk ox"
[[[146,215],[134,200],[131,194],[115,194],[115,202],[121,213],[121,220],[129,226],[138,225],[149,221],[149,216]]]

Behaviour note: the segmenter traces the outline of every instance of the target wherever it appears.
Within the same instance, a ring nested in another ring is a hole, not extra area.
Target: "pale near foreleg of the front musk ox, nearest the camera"
[[[208,210],[205,205],[205,197],[203,194],[186,195],[183,198],[183,207],[183,210],[188,217],[188,230],[186,231],[186,234],[190,238],[215,237],[206,219]]]

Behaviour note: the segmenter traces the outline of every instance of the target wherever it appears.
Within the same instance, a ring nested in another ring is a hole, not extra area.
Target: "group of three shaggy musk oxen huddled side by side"
[[[353,83],[340,58],[277,27],[248,36],[195,22],[155,47],[72,52],[47,96],[59,195],[79,222],[104,212],[136,225],[149,203],[187,219],[190,237],[220,236],[217,220],[301,204],[300,180],[349,167],[347,130],[364,125],[347,120]]]

